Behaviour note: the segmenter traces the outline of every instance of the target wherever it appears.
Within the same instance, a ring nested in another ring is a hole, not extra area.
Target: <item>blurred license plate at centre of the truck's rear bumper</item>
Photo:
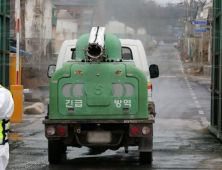
[[[87,141],[89,143],[110,143],[112,141],[111,132],[88,132]]]

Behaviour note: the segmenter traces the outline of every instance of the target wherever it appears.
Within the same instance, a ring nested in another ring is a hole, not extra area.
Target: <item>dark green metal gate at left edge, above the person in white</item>
[[[0,84],[9,86],[10,0],[0,0]]]

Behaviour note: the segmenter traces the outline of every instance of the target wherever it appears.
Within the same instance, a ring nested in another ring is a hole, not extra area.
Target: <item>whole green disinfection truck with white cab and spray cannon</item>
[[[48,70],[50,102],[43,124],[49,162],[60,163],[67,146],[103,151],[124,147],[126,153],[129,146],[138,146],[140,162],[151,164],[155,106],[148,101],[147,76],[158,77],[158,67],[151,65],[144,74],[135,66],[140,52],[129,60],[135,48],[124,49],[104,27],[93,27],[71,42],[64,42],[57,66]]]

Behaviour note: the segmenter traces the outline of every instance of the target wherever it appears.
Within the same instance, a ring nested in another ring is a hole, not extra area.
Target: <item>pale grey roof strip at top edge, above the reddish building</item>
[[[98,6],[99,0],[52,0],[55,6]]]

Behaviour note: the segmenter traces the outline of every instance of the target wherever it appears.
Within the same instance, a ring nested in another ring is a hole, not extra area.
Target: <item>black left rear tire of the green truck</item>
[[[48,141],[48,161],[50,164],[62,162],[62,142],[59,140]]]

